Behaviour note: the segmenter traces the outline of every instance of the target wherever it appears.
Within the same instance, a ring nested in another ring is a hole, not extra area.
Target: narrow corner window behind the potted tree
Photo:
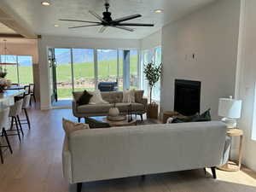
[[[159,66],[161,63],[161,48],[157,47],[154,49],[145,49],[142,53],[141,60],[141,88],[144,90],[144,96],[148,96],[148,81],[145,79],[145,74],[143,73],[143,68],[149,62],[153,61],[156,66]],[[152,99],[156,102],[160,102],[160,80],[154,85],[152,90]]]

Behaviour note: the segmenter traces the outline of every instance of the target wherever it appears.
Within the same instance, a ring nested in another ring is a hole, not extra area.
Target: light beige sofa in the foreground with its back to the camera
[[[68,183],[224,165],[230,138],[222,122],[156,124],[74,131],[63,144]]]

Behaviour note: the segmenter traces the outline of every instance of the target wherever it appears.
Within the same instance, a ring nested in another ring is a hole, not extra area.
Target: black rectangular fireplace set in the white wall
[[[200,113],[201,82],[175,80],[174,110],[189,116]]]

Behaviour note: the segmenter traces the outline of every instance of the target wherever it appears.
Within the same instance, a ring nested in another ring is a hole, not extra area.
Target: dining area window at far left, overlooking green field
[[[1,61],[15,63],[15,65],[3,66],[7,70],[6,79],[14,84],[32,84],[32,56],[29,55],[1,55]]]

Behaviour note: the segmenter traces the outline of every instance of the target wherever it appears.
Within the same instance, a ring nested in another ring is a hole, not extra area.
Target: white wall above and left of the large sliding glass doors
[[[38,41],[41,109],[50,108],[48,48],[139,49],[137,39],[70,38],[43,36]]]

